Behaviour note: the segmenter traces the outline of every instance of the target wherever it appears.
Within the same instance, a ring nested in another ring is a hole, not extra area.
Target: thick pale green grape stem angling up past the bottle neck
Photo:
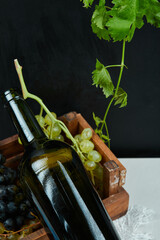
[[[19,81],[20,81],[20,84],[21,84],[23,98],[24,99],[27,99],[27,98],[34,99],[35,101],[37,101],[40,104],[41,112],[42,112],[42,109],[43,109],[46,112],[46,114],[48,114],[48,116],[50,117],[52,122],[56,122],[56,123],[58,123],[60,125],[61,129],[65,132],[66,136],[72,141],[73,145],[75,146],[75,149],[76,149],[78,155],[80,156],[82,162],[84,162],[85,156],[81,152],[81,150],[80,150],[80,148],[79,148],[79,146],[77,144],[77,141],[73,138],[73,136],[71,135],[71,133],[68,130],[68,128],[66,127],[66,125],[62,121],[56,119],[52,115],[52,113],[49,111],[49,109],[43,103],[41,98],[39,98],[36,95],[31,94],[31,93],[28,92],[27,87],[26,87],[25,82],[24,82],[23,74],[22,74],[22,66],[19,65],[19,62],[18,62],[17,59],[14,60],[14,64],[15,64],[15,68],[16,68],[16,71],[17,71],[17,74],[18,74],[18,77],[19,77]]]

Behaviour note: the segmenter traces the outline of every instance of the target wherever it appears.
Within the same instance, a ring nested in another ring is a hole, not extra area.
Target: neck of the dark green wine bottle
[[[16,91],[6,91],[3,100],[24,147],[46,138],[27,102]]]

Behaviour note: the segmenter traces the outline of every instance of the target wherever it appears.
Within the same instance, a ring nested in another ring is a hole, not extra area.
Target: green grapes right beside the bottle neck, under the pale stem
[[[51,113],[55,118],[57,118],[56,113]],[[41,115],[36,115],[35,117],[49,139],[64,141],[64,137],[61,134],[61,127],[58,123],[52,122],[48,114],[46,114],[45,117]]]

